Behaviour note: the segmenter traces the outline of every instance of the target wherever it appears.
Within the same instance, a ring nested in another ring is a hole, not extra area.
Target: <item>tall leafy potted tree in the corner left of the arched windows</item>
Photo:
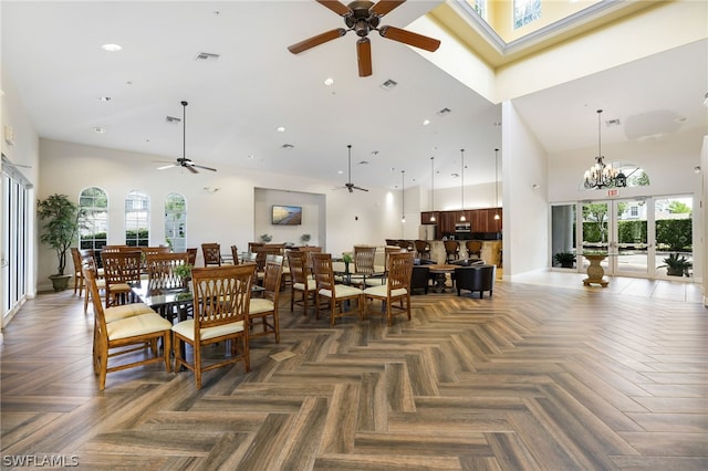
[[[63,291],[69,284],[71,274],[65,274],[66,252],[79,236],[83,211],[66,195],[54,193],[37,201],[37,214],[46,221],[43,226],[40,242],[48,244],[56,253],[56,273],[50,275],[54,291]]]

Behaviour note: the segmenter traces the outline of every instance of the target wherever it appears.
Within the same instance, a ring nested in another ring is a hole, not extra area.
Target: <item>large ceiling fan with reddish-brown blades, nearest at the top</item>
[[[327,41],[341,38],[348,31],[354,31],[356,32],[356,35],[360,36],[356,41],[358,76],[366,77],[372,74],[372,44],[367,38],[369,31],[378,31],[378,34],[386,39],[403,42],[404,44],[425,49],[430,52],[436,51],[440,46],[439,40],[424,36],[423,34],[394,27],[378,27],[382,17],[402,3],[405,3],[406,0],[379,0],[377,3],[356,0],[347,6],[339,0],[315,1],[344,18],[346,29],[336,28],[293,44],[288,48],[288,50],[293,54],[299,54],[314,48],[315,45],[324,44]]]

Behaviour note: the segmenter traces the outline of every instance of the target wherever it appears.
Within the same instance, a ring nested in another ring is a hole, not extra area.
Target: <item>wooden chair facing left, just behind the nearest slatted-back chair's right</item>
[[[251,331],[249,338],[274,335],[275,343],[280,343],[280,281],[282,278],[282,260],[269,260],[266,262],[263,289],[261,297],[251,297],[248,311]],[[257,321],[260,321],[260,325]],[[259,328],[259,327],[262,327]]]

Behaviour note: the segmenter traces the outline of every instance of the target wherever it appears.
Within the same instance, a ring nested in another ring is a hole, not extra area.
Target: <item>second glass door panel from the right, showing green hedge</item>
[[[654,244],[648,243],[649,226],[653,219],[650,199],[613,200],[613,233],[610,237],[612,255],[608,258],[611,271],[620,276],[646,278],[649,275],[648,261],[654,255]]]

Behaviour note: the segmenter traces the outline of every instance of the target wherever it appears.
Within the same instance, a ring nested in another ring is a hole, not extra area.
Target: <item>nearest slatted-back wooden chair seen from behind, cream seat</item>
[[[248,325],[252,276],[252,264],[191,270],[194,318],[173,326],[173,349],[175,369],[190,369],[197,389],[201,389],[204,371],[240,362],[247,373],[251,370]],[[231,355],[206,364],[202,349],[226,341],[231,342]],[[183,343],[192,347],[191,363],[180,353]]]

